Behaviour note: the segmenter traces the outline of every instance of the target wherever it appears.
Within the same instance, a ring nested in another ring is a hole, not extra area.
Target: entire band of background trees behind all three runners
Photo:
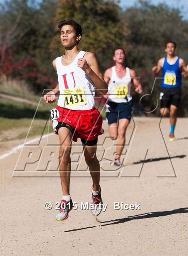
[[[165,55],[167,40],[177,42],[177,54],[188,63],[188,22],[178,9],[166,4],[137,3],[123,10],[115,0],[5,0],[0,14],[1,76],[24,79],[35,93],[54,87],[56,73],[51,62],[64,54],[57,25],[73,18],[83,29],[79,48],[94,52],[103,72],[113,65],[113,50],[122,47],[128,54],[127,66],[141,77],[144,93],[150,93],[151,67]],[[159,84],[158,80],[152,97],[144,98],[146,110],[155,107]],[[187,89],[184,79],[181,116],[187,115]],[[135,105],[139,97],[134,95]]]

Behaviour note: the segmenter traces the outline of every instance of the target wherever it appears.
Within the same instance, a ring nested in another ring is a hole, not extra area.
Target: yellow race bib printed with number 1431
[[[86,104],[84,87],[75,87],[64,90],[64,107],[74,107]]]

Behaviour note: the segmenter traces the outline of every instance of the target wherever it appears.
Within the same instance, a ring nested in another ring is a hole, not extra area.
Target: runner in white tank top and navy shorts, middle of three
[[[141,94],[142,88],[135,71],[124,66],[124,49],[115,49],[113,60],[115,66],[108,68],[104,73],[104,80],[108,84],[108,93],[104,97],[108,97],[106,117],[109,133],[111,139],[118,139],[114,164],[121,166],[120,156],[124,149],[125,132],[131,120],[131,86],[138,94]]]

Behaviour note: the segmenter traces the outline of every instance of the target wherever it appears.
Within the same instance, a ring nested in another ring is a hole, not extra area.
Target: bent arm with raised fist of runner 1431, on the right
[[[108,85],[103,79],[103,75],[98,67],[97,59],[93,53],[87,52],[84,58],[79,58],[78,67],[81,67],[81,69],[90,76],[90,79],[94,82],[97,89],[99,89],[103,94],[107,93]]]

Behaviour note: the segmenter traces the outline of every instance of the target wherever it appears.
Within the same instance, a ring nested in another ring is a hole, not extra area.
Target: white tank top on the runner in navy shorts
[[[127,94],[125,98],[118,98],[116,97],[117,89],[120,87],[127,87],[125,88],[127,90]],[[116,102],[116,103],[123,103],[128,102],[132,99],[131,97],[131,76],[129,68],[126,67],[126,75],[122,78],[118,77],[115,71],[115,66],[111,67],[111,80],[108,84],[108,91],[110,93],[109,100]]]

